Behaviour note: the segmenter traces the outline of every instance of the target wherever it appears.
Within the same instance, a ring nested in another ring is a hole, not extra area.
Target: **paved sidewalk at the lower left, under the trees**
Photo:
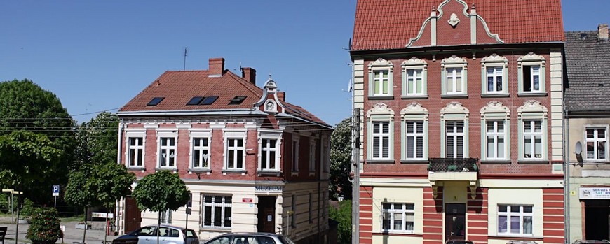
[[[78,221],[61,223],[65,226],[63,243],[81,243],[83,241],[83,230],[74,228],[77,223]],[[87,230],[85,243],[102,244],[102,242],[104,241],[105,230],[104,221],[87,222],[87,224],[91,224],[91,229]],[[8,227],[6,237],[4,238],[4,243],[14,244],[16,224],[11,223],[11,217],[0,217],[0,226]],[[19,224],[19,233],[17,235],[18,243],[30,243],[30,241],[25,238],[25,234],[27,233],[27,227],[29,227],[29,224]],[[117,236],[108,236],[107,241],[112,241],[116,237]],[[57,243],[62,243],[62,239],[60,238],[59,240],[57,240]]]

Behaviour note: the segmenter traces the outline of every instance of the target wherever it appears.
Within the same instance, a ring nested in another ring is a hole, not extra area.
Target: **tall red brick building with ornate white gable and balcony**
[[[359,0],[359,243],[564,243],[560,0]]]

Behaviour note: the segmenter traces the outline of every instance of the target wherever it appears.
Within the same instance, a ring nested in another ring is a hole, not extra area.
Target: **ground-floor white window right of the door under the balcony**
[[[534,206],[498,205],[498,234],[531,235]]]

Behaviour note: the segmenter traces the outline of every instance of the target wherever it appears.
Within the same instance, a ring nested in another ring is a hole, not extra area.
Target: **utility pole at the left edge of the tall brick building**
[[[352,228],[351,228],[351,243],[360,243],[360,153],[359,137],[360,137],[360,109],[353,108],[351,118],[351,150],[352,150],[352,172],[353,172],[353,190],[352,190]]]

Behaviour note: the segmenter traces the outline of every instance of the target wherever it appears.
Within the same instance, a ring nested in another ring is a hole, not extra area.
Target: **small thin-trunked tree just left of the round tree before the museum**
[[[97,196],[97,201],[102,203],[106,209],[111,209],[114,208],[116,201],[131,193],[131,184],[134,181],[135,174],[128,172],[123,164],[96,164],[88,179],[88,186]],[[108,229],[106,233],[108,233]],[[104,241],[106,241],[106,237],[104,234]]]

